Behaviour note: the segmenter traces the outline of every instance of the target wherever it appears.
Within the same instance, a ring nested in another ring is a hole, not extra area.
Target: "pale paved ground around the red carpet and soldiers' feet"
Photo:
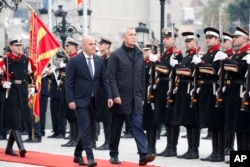
[[[205,131],[204,131],[205,132]],[[201,137],[205,136],[205,133],[201,134]],[[181,132],[180,136],[182,136],[184,132]],[[46,137],[42,139],[42,143],[25,143],[25,147],[27,151],[37,151],[40,152],[48,152],[54,154],[63,154],[63,155],[73,155],[73,147],[65,148],[61,147],[61,144],[67,142],[65,139],[50,139],[47,138],[48,135],[51,135],[50,130],[46,131]],[[27,136],[22,136],[23,139],[26,139]],[[103,143],[103,133],[99,136],[99,140],[97,142],[97,146]],[[178,154],[183,154],[187,148],[187,141],[185,138],[179,138],[178,144]],[[162,151],[165,148],[166,137],[161,137],[160,140],[157,140],[157,152]],[[6,141],[0,141],[0,148],[5,148]],[[16,145],[14,146],[16,148]],[[200,157],[206,157],[211,152],[211,140],[201,139],[200,143]],[[122,161],[130,161],[138,163],[138,155],[136,154],[136,145],[134,139],[121,139],[120,143],[120,160]],[[28,156],[29,152],[27,153]],[[83,154],[84,155],[84,154]],[[94,150],[94,155],[99,159],[109,159],[108,151],[97,151]],[[1,155],[0,155],[1,156]],[[228,157],[226,157],[228,159]],[[155,161],[151,164],[158,165],[160,167],[229,167],[229,165],[224,162],[203,162],[199,159],[196,160],[184,160],[178,159],[176,157],[156,157]],[[100,164],[99,164],[100,165]],[[118,165],[119,166],[119,165]],[[0,161],[0,167],[38,167],[34,165],[27,164],[17,164],[17,163],[8,163]]]

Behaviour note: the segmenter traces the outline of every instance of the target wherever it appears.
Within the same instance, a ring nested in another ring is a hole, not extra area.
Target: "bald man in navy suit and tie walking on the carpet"
[[[82,150],[85,150],[88,166],[96,166],[91,145],[90,129],[95,125],[95,113],[99,104],[99,90],[102,86],[108,106],[113,105],[105,63],[96,53],[96,40],[85,36],[82,40],[83,52],[69,59],[66,67],[66,99],[71,110],[75,110],[80,139],[75,149],[74,162],[84,165]]]

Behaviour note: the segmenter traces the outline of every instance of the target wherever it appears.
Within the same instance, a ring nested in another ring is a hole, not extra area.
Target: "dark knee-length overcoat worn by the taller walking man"
[[[127,49],[124,44],[111,53],[107,73],[113,98],[120,97],[122,104],[111,108],[111,112],[142,114],[145,97],[145,66],[143,54],[136,46]]]

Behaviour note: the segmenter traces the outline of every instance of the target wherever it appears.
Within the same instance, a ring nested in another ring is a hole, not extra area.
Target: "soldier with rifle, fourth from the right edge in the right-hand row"
[[[195,65],[191,61],[193,56],[198,55],[200,50],[196,43],[199,35],[194,34],[194,32],[183,32],[182,36],[185,40],[186,56],[181,63],[178,63],[176,59],[170,59],[170,65],[174,67],[178,77],[172,122],[175,126],[186,127],[187,131],[188,150],[177,157],[197,159],[199,158],[198,147],[200,139],[199,115],[198,108],[190,108],[190,92],[193,88],[192,74],[195,70]]]

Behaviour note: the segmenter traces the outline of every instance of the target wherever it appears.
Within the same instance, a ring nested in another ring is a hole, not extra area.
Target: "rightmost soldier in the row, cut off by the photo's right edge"
[[[225,90],[225,131],[236,132],[238,151],[249,150],[250,114],[241,108],[245,74],[247,71],[249,45],[249,32],[241,27],[236,27],[233,34],[233,45],[237,47],[235,54],[231,58],[221,58],[226,70],[226,90]],[[249,77],[249,71],[248,75]],[[244,101],[244,99],[243,99]],[[241,111],[243,110],[243,111]]]

